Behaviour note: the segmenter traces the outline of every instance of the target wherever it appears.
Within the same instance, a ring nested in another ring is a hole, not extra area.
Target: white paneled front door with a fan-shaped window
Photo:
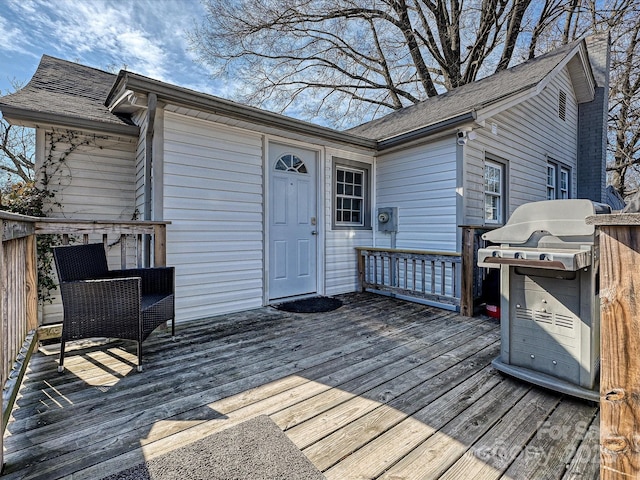
[[[316,153],[269,144],[269,299],[317,292]]]

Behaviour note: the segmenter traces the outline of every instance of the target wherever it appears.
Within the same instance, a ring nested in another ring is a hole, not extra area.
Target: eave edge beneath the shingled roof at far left
[[[22,108],[10,107],[8,105],[0,105],[2,116],[12,124],[24,127],[43,127],[56,126],[67,129],[91,130],[100,133],[138,136],[140,129],[136,125],[124,125],[117,123],[99,122],[96,120],[88,120],[68,115],[36,112],[25,110]]]

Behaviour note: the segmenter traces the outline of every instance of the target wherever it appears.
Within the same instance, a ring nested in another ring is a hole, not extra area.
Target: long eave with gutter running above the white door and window
[[[372,139],[303,122],[284,115],[260,110],[255,107],[241,105],[230,100],[169,85],[164,82],[142,77],[130,72],[121,72],[118,75],[118,79],[114,83],[114,86],[107,97],[107,108],[111,108],[113,106],[112,103],[116,99],[121,98],[122,93],[124,93],[125,90],[145,95],[149,92],[153,92],[158,96],[158,101],[194,108],[248,123],[281,128],[292,133],[310,135],[370,150],[375,150],[377,147],[377,142]]]

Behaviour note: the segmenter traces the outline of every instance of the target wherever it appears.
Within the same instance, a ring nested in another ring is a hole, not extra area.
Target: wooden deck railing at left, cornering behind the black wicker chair
[[[38,318],[36,237],[60,235],[61,243],[102,241],[119,245],[120,266],[166,265],[166,226],[169,222],[87,221],[35,218],[0,212],[0,385],[2,434],[33,349],[42,338],[58,335],[60,326],[43,329]]]

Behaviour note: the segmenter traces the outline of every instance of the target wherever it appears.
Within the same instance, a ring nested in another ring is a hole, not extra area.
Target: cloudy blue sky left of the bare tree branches
[[[0,91],[26,83],[47,54],[224,96],[188,51],[204,14],[199,0],[0,0]]]

